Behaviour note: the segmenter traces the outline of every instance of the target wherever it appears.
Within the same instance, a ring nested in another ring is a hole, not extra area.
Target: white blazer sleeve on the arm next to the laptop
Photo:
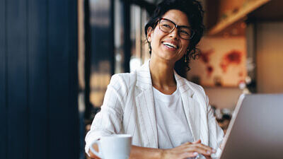
[[[221,154],[221,143],[223,141],[224,132],[219,126],[219,124],[216,122],[216,119],[214,117],[214,112],[209,105],[209,100],[206,97],[207,102],[207,119],[208,119],[208,126],[209,126],[209,146],[214,148],[216,150],[216,158],[220,157]]]

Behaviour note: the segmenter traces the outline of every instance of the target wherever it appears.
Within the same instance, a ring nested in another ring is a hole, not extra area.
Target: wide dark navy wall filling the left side
[[[0,158],[79,158],[77,1],[0,1]]]

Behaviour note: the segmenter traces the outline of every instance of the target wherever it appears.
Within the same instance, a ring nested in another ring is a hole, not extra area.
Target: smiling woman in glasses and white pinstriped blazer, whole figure
[[[101,111],[86,135],[91,143],[109,134],[132,134],[130,158],[211,158],[223,131],[201,86],[178,76],[203,34],[196,0],[165,0],[146,24],[151,53],[140,69],[112,76]],[[94,146],[96,147],[96,146]]]

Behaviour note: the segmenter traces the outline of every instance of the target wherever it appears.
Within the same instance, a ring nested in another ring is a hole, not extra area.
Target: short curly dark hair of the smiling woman
[[[193,35],[192,39],[190,40],[190,45],[187,54],[185,54],[184,57],[178,60],[175,64],[175,70],[177,72],[182,70],[178,70],[176,69],[176,67],[189,71],[190,59],[195,59],[195,57],[197,57],[197,55],[199,54],[199,49],[197,49],[197,44],[200,42],[200,39],[202,38],[202,35],[204,33],[204,24],[203,24],[204,11],[202,9],[202,5],[200,4],[200,1],[197,0],[161,1],[161,3],[158,4],[158,6],[154,11],[154,14],[151,16],[151,18],[149,19],[148,23],[146,23],[146,26],[144,28],[146,34],[146,40],[147,40],[147,30],[149,29],[149,27],[155,28],[158,19],[162,18],[162,16],[171,9],[177,9],[185,13],[190,23],[190,27],[195,32],[195,35]],[[148,40],[147,42],[149,43]],[[150,43],[149,43],[149,47],[150,47]],[[151,54],[151,48],[149,53]],[[185,56],[187,59],[186,62],[185,62]]]

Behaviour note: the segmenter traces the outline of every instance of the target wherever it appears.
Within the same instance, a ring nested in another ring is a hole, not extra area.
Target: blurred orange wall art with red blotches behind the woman
[[[202,86],[238,87],[246,78],[245,37],[204,37],[199,48],[200,58],[191,61],[187,73],[190,81]]]

